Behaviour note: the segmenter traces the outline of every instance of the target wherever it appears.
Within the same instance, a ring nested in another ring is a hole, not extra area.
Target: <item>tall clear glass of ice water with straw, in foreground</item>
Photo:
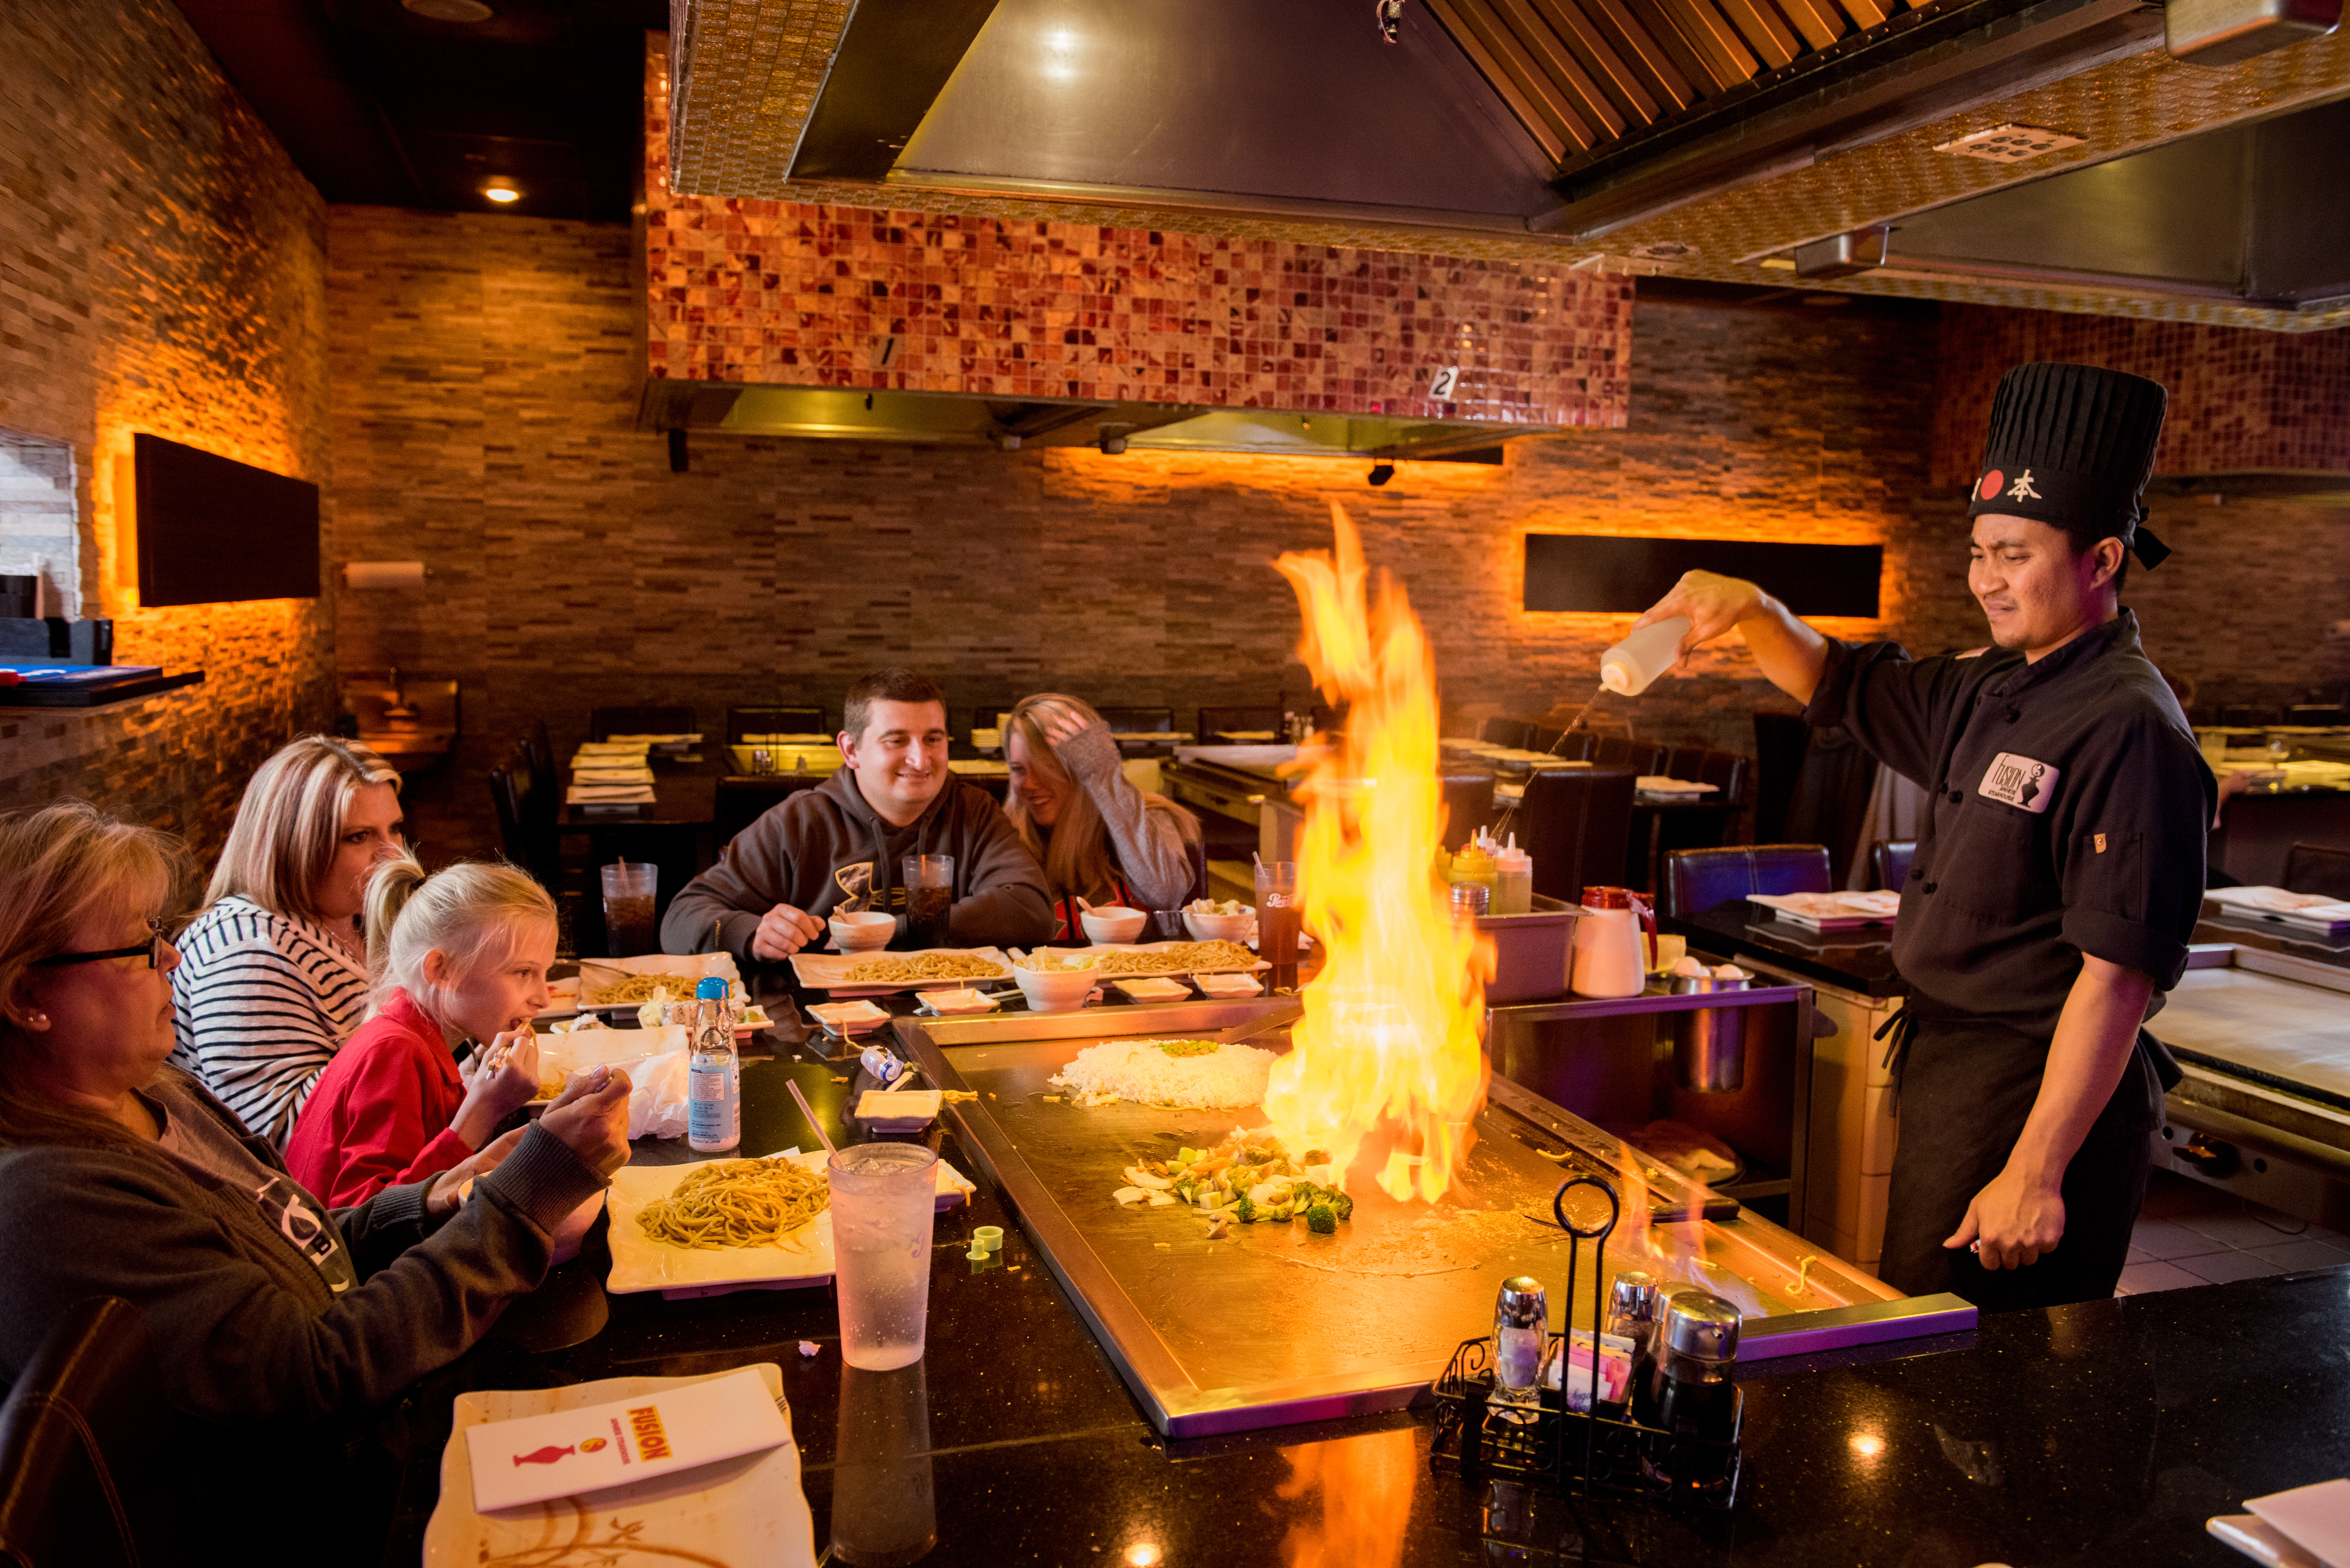
[[[832,1180],[841,1359],[870,1373],[921,1361],[938,1154],[919,1143],[855,1143],[839,1150],[825,1173]]]

